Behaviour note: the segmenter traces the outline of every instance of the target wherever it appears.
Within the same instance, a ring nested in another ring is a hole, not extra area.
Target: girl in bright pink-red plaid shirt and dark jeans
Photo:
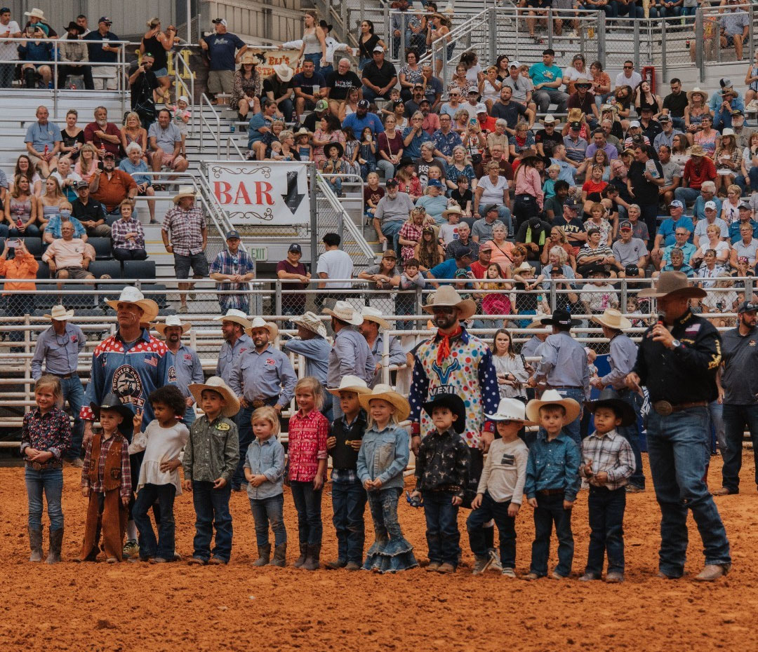
[[[327,472],[329,422],[319,412],[324,403],[321,382],[313,376],[295,385],[298,410],[290,416],[290,488],[297,510],[300,556],[295,568],[318,570],[321,557],[321,488]]]

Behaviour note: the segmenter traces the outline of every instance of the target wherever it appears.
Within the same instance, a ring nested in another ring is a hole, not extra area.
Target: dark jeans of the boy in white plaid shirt
[[[608,554],[608,572],[624,572],[624,510],[626,488],[610,491],[590,486],[590,546],[584,572],[600,575]]]

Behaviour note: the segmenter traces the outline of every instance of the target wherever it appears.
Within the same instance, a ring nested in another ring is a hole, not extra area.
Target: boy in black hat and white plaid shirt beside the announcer
[[[603,574],[603,556],[608,554],[606,582],[624,581],[624,510],[626,484],[634,473],[634,453],[616,431],[637,420],[634,409],[613,388],[603,389],[587,409],[594,413],[595,432],[581,442],[584,463],[579,473],[590,481],[590,547],[587,567],[579,579],[588,582]]]

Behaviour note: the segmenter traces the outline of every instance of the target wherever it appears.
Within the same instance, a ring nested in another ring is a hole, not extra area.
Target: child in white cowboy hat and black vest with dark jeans
[[[327,438],[327,451],[332,458],[332,523],[337,530],[337,559],[327,562],[326,567],[360,570],[365,541],[366,490],[358,479],[356,465],[368,426],[358,397],[371,394],[371,390],[364,379],[344,376],[338,388],[327,391],[340,399],[344,414],[332,423],[331,435]]]

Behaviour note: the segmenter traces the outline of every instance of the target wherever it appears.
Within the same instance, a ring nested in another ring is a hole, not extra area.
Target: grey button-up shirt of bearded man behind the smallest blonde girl
[[[255,346],[245,351],[234,363],[229,386],[246,401],[277,398],[282,407],[295,395],[297,376],[287,354],[268,345],[260,353]]]

